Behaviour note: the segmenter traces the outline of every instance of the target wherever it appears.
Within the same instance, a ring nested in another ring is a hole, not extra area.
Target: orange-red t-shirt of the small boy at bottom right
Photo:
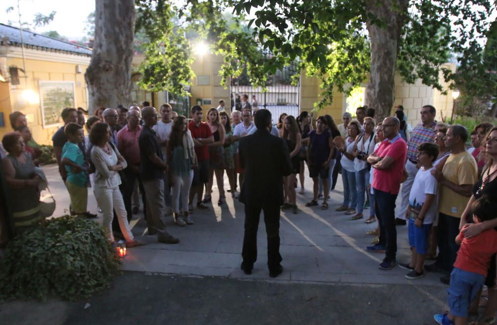
[[[497,231],[488,229],[472,238],[465,238],[461,231],[459,238],[462,241],[461,248],[457,252],[454,267],[487,276],[490,259],[497,253]]]

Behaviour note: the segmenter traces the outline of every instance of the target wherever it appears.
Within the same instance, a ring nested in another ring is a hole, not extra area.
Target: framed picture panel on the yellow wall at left
[[[76,107],[74,81],[40,81],[43,128],[59,125],[65,107]]]

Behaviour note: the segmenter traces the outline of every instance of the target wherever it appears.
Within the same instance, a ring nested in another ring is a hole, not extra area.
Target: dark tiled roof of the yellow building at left
[[[28,30],[22,30],[22,37],[25,48],[91,57],[91,49],[85,46],[37,34]],[[0,24],[0,45],[13,45],[20,47],[20,29]]]

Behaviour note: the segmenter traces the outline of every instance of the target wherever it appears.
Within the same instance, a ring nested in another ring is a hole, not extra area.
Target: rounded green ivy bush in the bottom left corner
[[[107,288],[119,266],[96,222],[53,218],[8,243],[0,260],[0,298],[77,300]]]

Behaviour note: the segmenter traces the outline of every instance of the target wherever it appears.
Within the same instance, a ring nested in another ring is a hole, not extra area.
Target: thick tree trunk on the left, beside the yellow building
[[[90,113],[131,104],[135,17],[134,0],[95,0],[95,41],[84,73]]]

